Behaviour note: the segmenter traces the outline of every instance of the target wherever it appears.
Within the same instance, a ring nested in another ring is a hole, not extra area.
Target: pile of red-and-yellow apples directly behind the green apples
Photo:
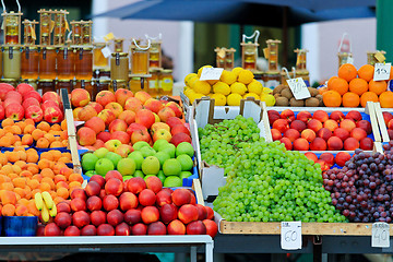
[[[102,91],[96,102],[82,88],[71,93],[75,107],[74,119],[85,121],[78,130],[78,142],[88,150],[109,147],[115,144],[133,145],[139,141],[153,144],[167,140],[177,146],[191,142],[190,131],[184,127],[183,112],[175,102],[152,98],[146,92],[119,88],[114,94]]]

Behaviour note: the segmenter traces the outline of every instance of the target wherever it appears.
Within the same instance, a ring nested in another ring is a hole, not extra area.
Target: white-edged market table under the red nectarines
[[[196,262],[196,252],[205,252],[205,261],[212,262],[213,248],[207,235],[0,238],[0,252],[190,252],[191,262]]]

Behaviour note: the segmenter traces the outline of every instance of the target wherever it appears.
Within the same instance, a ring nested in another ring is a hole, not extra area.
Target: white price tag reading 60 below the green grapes
[[[284,250],[301,249],[301,222],[282,222],[281,247]]]

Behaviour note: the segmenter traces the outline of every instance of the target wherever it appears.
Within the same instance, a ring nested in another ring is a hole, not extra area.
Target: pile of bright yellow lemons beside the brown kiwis
[[[241,99],[254,97],[264,100],[266,106],[274,106],[275,98],[272,90],[263,87],[261,82],[254,80],[250,70],[234,68],[231,71],[224,70],[219,80],[201,81],[204,66],[198,70],[198,74],[190,73],[184,78],[184,95],[192,104],[195,99],[209,96],[215,99],[216,106],[239,106]]]

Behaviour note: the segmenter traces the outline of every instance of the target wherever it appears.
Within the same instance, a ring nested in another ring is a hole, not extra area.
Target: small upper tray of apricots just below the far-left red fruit
[[[50,126],[46,121],[35,126],[32,119],[14,122],[7,118],[1,122],[0,147],[57,148],[68,145],[67,121]]]

